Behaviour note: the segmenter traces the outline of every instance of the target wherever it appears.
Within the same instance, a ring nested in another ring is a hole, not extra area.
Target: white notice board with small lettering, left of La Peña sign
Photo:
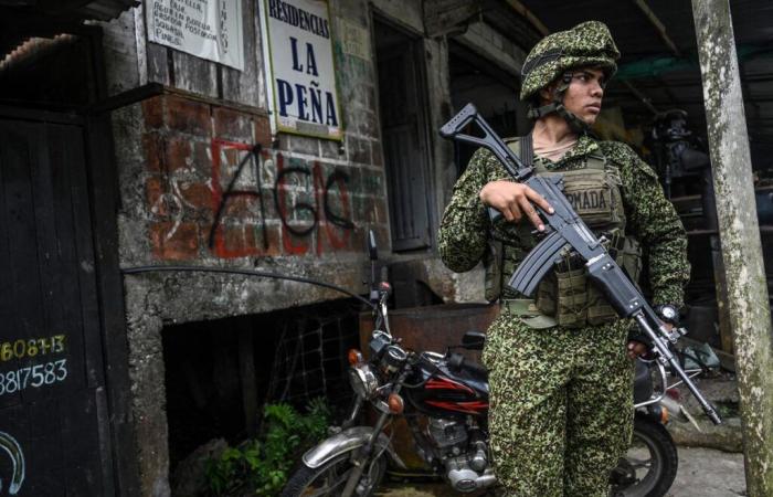
[[[148,40],[244,68],[242,0],[146,0]]]

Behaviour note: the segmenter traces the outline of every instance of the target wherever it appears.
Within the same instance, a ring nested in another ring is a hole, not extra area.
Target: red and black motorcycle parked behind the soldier
[[[378,254],[372,233],[368,241],[374,282]],[[495,487],[487,426],[488,373],[453,351],[481,350],[485,335],[468,331],[459,346],[445,353],[406,350],[390,332],[390,293],[385,281],[371,283],[374,326],[368,358],[359,350],[351,350],[348,358],[356,393],[352,410],[340,426],[331,427],[331,436],[304,454],[284,497],[373,495],[388,464],[406,469],[384,430],[395,416],[406,420],[419,455],[451,488],[472,493]],[[654,376],[659,376],[658,389],[653,387]],[[663,364],[637,361],[634,444],[612,473],[616,497],[663,496],[676,477],[677,450],[664,422],[667,412],[679,413],[681,406],[665,394],[667,389]],[[372,426],[356,425],[366,403],[378,417]]]

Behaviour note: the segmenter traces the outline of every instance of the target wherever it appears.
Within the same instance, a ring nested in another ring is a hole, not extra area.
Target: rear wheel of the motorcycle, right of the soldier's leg
[[[679,457],[668,431],[645,417],[636,417],[626,456],[612,472],[615,497],[663,497],[674,484]]]

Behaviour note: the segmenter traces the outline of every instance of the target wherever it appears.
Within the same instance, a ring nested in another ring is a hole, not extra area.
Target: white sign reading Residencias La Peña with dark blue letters
[[[341,139],[327,0],[260,0],[279,131]]]

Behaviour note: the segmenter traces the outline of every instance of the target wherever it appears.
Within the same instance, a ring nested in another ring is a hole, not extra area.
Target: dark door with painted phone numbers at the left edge
[[[2,495],[114,495],[84,141],[0,117]]]

